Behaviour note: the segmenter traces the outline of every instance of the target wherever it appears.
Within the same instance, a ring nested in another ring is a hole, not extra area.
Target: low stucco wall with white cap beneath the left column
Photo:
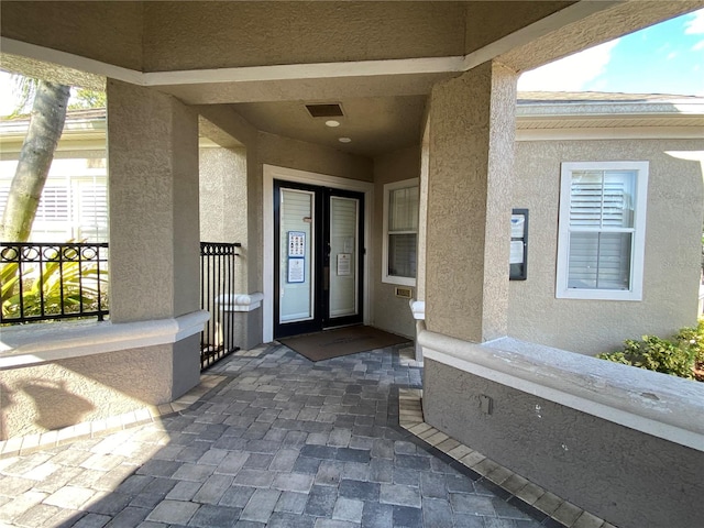
[[[0,336],[0,440],[173,402],[200,382],[207,312],[133,323],[75,322]]]

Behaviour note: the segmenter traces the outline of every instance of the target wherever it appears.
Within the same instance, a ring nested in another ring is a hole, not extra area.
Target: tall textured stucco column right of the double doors
[[[484,63],[430,96],[426,324],[465,341],[507,331],[517,78]]]

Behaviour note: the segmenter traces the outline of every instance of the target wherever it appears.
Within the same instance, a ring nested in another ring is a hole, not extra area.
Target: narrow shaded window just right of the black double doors
[[[384,186],[382,280],[416,285],[418,248],[418,178]]]

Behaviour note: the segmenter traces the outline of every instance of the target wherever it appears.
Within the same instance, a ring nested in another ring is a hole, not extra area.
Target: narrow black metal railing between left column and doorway
[[[234,296],[235,258],[242,244],[200,243],[200,308],[210,319],[200,334],[200,369],[239,349],[234,344],[234,311],[228,305]]]

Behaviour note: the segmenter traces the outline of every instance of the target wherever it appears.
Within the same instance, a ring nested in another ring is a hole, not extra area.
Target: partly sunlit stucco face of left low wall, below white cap
[[[170,402],[173,358],[158,345],[3,370],[0,440]]]

